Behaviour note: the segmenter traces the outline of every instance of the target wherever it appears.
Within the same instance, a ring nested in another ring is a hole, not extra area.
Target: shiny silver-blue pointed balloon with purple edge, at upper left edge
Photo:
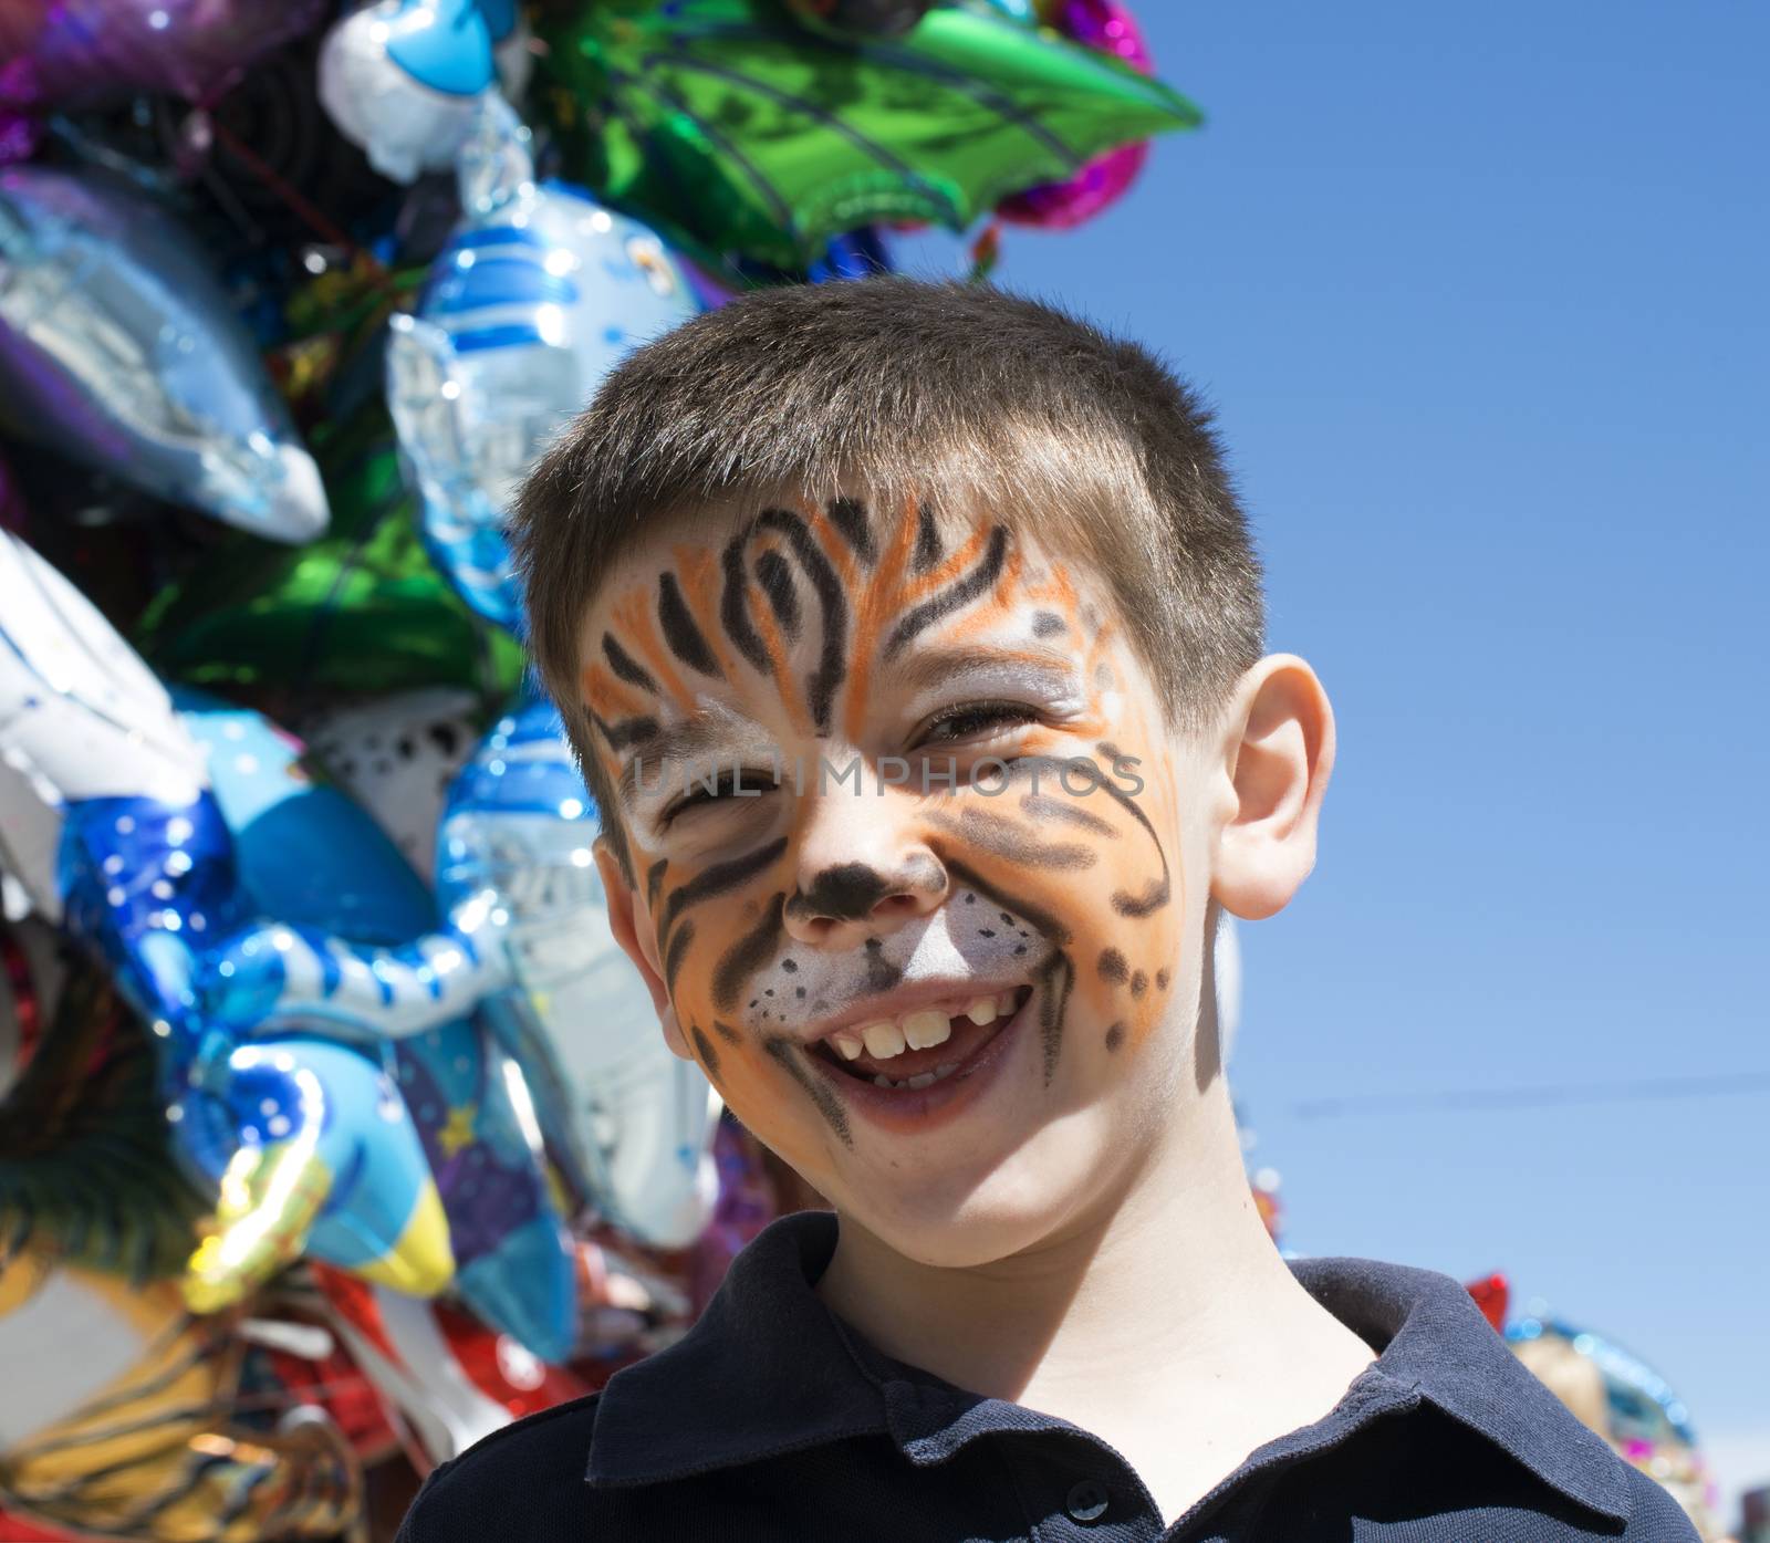
[[[0,170],[0,418],[244,531],[326,529],[319,469],[196,242],[103,173]]]

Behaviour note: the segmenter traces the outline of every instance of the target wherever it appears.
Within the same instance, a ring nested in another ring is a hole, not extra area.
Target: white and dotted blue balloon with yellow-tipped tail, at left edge
[[[382,1067],[326,1040],[242,1044],[200,1010],[207,952],[255,918],[205,747],[97,610],[4,534],[0,641],[4,862],[152,1028],[175,1150],[218,1193],[191,1304],[239,1301],[310,1233],[368,1278],[441,1290],[448,1223]]]

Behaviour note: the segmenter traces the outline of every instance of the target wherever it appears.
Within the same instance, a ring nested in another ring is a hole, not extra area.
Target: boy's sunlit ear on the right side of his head
[[[1225,725],[1230,812],[1211,876],[1232,915],[1257,922],[1283,910],[1315,867],[1333,752],[1333,706],[1301,658],[1267,655],[1243,676]]]

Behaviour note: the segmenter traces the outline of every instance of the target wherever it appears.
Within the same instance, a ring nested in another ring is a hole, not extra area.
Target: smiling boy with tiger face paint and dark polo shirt
[[[1207,940],[1308,874],[1333,715],[1158,363],[986,288],[752,294],[517,531],[614,934],[834,1216],[407,1543],[1694,1536],[1453,1281],[1258,1223]]]

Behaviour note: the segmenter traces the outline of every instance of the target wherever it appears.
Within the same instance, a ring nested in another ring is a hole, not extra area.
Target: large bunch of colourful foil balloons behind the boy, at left
[[[646,338],[1197,122],[1117,0],[0,0],[5,1536],[366,1536],[687,1327],[789,1177],[503,510]]]

